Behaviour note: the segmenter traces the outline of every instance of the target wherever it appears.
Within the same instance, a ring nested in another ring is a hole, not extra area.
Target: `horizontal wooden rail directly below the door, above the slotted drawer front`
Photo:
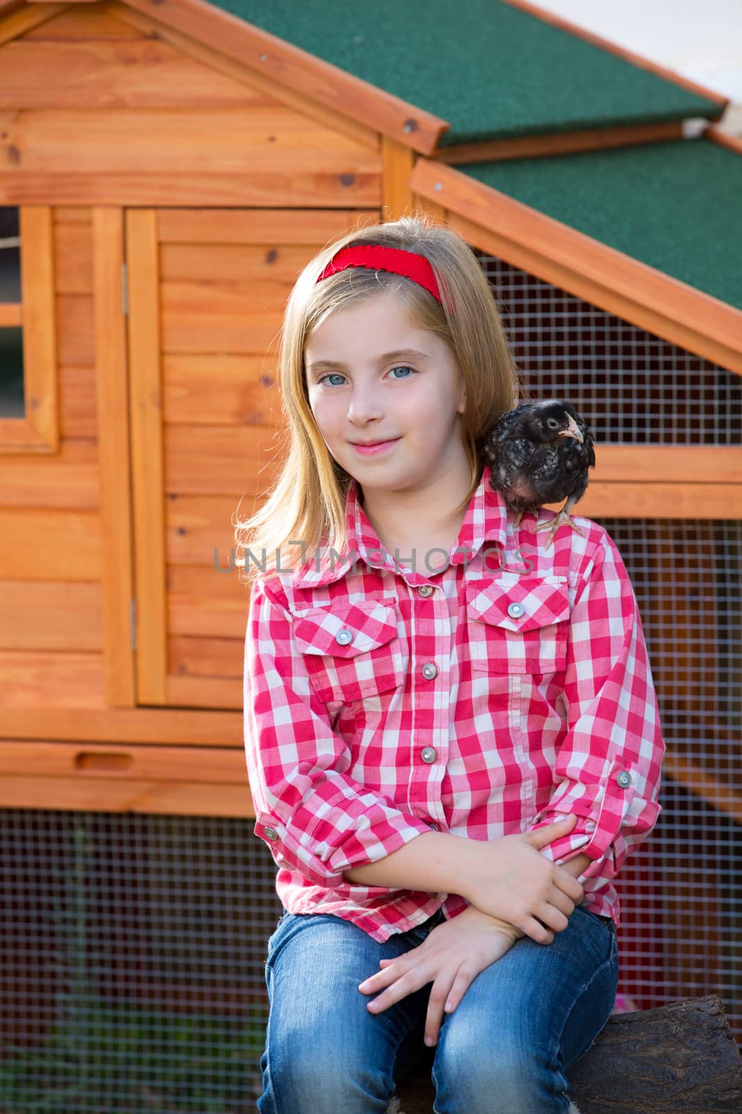
[[[56,709],[43,705],[18,709],[0,704],[0,736],[7,739],[241,749],[243,730],[241,712],[155,707]]]

